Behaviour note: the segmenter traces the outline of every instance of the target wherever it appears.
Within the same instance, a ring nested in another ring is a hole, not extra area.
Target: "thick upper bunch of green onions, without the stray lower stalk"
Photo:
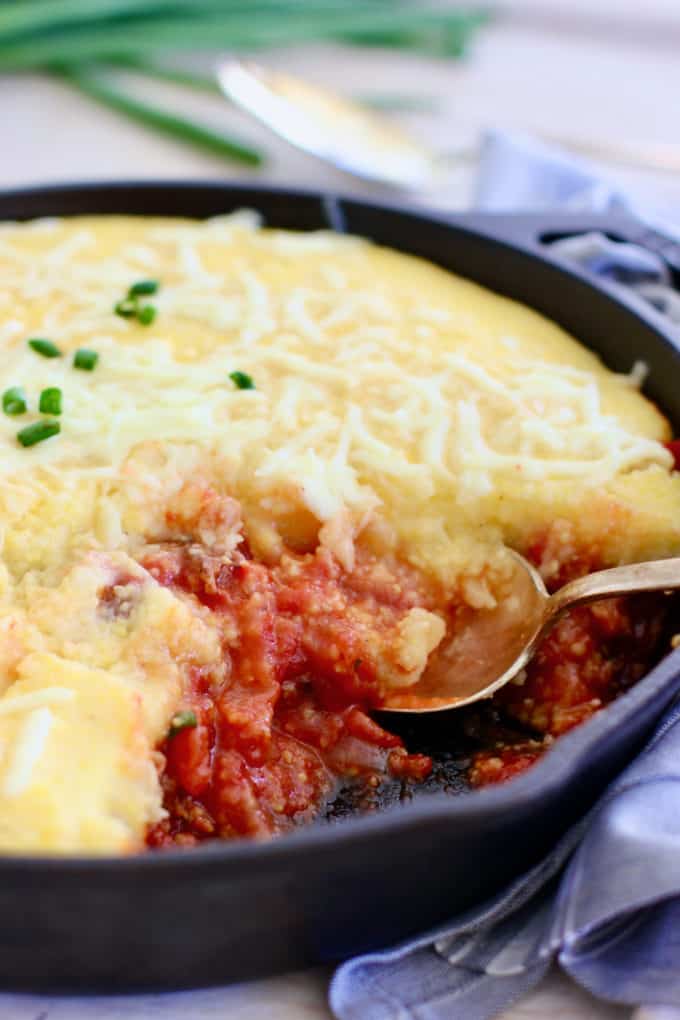
[[[9,0],[0,70],[323,40],[460,55],[484,17],[417,0]]]

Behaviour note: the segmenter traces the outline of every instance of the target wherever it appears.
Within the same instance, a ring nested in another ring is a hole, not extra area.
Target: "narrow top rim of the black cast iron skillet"
[[[401,217],[411,218],[414,223],[417,221],[433,222],[438,225],[448,226],[452,231],[460,234],[467,234],[471,237],[481,237],[485,241],[491,241],[502,248],[521,252],[537,261],[548,262],[555,269],[566,277],[576,277],[586,284],[588,288],[604,294],[612,302],[623,305],[624,308],[634,317],[651,328],[659,339],[670,347],[678,356],[680,370],[680,342],[674,340],[668,328],[668,323],[664,317],[647,305],[642,299],[631,293],[611,284],[607,280],[595,280],[586,271],[569,265],[550,255],[546,250],[542,250],[536,242],[535,236],[541,233],[542,227],[556,226],[558,228],[572,230],[578,233],[580,230],[606,230],[608,232],[618,231],[624,237],[627,235],[639,234],[640,224],[634,219],[622,216],[612,217],[607,215],[579,215],[558,214],[509,214],[507,216],[493,213],[457,213],[446,215],[438,212],[428,212],[426,210],[413,207],[402,207],[394,202],[365,201],[355,196],[343,196],[335,193],[324,193],[314,189],[290,188],[279,186],[266,186],[253,184],[251,182],[224,182],[224,181],[173,181],[168,180],[130,180],[130,181],[97,181],[69,183],[64,185],[36,186],[24,189],[10,189],[0,191],[0,225],[13,219],[23,221],[33,218],[43,218],[49,216],[70,216],[84,214],[79,213],[77,208],[69,209],[68,212],[41,212],[38,215],[21,216],[7,213],[7,206],[24,201],[54,199],[69,200],[77,205],[79,198],[92,198],[106,194],[124,195],[126,192],[158,194],[159,192],[172,192],[189,194],[191,192],[204,193],[206,195],[223,194],[225,198],[233,198],[240,195],[252,196],[260,193],[262,196],[274,195],[279,198],[289,197],[292,200],[308,199],[319,203],[320,208],[325,211],[328,226],[339,225],[344,221],[344,208],[351,209],[353,206],[366,209],[373,209],[383,213],[395,213]],[[90,212],[85,214],[106,214]],[[121,213],[124,214],[124,213]],[[155,213],[152,213],[155,214]],[[160,215],[161,213],[159,213]],[[172,215],[172,213],[164,213]],[[129,213],[129,215],[141,215],[141,213]],[[199,217],[200,218],[200,217]],[[578,223],[582,225],[577,225]],[[319,228],[319,227],[316,227]],[[323,228],[323,227],[321,227]],[[405,249],[408,250],[408,249]],[[223,863],[229,867],[229,877],[239,877],[240,870],[251,871],[258,865],[263,870],[268,870],[269,866],[276,866],[279,862],[289,858],[295,858],[299,852],[309,850],[322,850],[329,845],[350,846],[353,843],[360,843],[371,833],[394,833],[398,835],[412,828],[418,827],[424,821],[446,818],[448,821],[455,821],[457,817],[465,818],[466,821],[479,819],[483,821],[489,815],[493,815],[502,810],[512,807],[520,808],[538,795],[545,796],[552,789],[557,793],[569,778],[571,773],[577,772],[580,768],[583,757],[610,731],[617,728],[619,722],[634,712],[636,708],[641,708],[647,702],[653,701],[655,697],[668,688],[669,698],[680,693],[680,648],[667,655],[653,669],[643,676],[630,691],[621,695],[616,702],[613,702],[595,716],[592,716],[580,726],[564,734],[556,742],[539,761],[527,772],[513,779],[507,785],[487,787],[475,790],[472,794],[461,795],[459,797],[449,797],[442,793],[435,793],[427,798],[413,802],[409,805],[386,808],[374,816],[349,818],[342,823],[328,824],[318,827],[301,828],[298,831],[286,834],[277,839],[263,843],[254,843],[248,839],[239,839],[232,843],[204,844],[188,850],[164,850],[159,852],[141,852],[129,856],[113,855],[68,855],[64,857],[48,857],[42,855],[7,855],[0,858],[0,874],[3,870],[13,873],[35,872],[44,876],[54,876],[57,874],[70,874],[74,871],[85,870],[88,874],[93,872],[128,873],[137,872],[139,869],[152,868],[155,872],[170,869],[173,872],[190,868],[192,872],[200,870],[202,867],[210,867]]]

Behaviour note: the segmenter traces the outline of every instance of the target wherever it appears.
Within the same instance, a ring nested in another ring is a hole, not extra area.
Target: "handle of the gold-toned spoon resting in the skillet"
[[[597,599],[610,599],[618,595],[632,595],[637,592],[666,592],[680,589],[680,557],[668,560],[650,560],[647,563],[631,563],[611,570],[579,577],[565,584],[551,596],[548,613],[551,617],[564,613],[573,606],[582,606]]]

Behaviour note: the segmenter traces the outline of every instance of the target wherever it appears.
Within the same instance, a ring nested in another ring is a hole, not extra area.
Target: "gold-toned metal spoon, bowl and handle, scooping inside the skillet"
[[[568,609],[598,599],[680,589],[680,557],[599,570],[545,591],[537,570],[518,553],[509,594],[490,610],[470,611],[421,680],[388,693],[389,712],[440,712],[488,698],[522,670]]]

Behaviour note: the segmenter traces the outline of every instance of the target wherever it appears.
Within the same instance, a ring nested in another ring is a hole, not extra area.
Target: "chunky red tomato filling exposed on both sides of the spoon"
[[[528,554],[539,567],[551,558],[548,588],[597,568],[596,557],[565,552],[564,543],[556,560],[555,544],[551,533]],[[287,551],[273,566],[242,547],[225,565],[182,543],[155,547],[143,565],[214,614],[226,664],[219,677],[193,671],[159,748],[167,816],[150,829],[149,846],[276,834],[309,822],[348,781],[377,787],[388,776],[408,784],[430,773],[429,757],[409,754],[369,715],[385,676],[403,669],[408,614],[455,617],[418,571],[359,550],[348,571],[322,547]],[[526,737],[487,737],[471,761],[470,783],[524,771],[554,737],[634,683],[658,654],[664,617],[659,596],[565,616],[492,700],[492,711]]]

